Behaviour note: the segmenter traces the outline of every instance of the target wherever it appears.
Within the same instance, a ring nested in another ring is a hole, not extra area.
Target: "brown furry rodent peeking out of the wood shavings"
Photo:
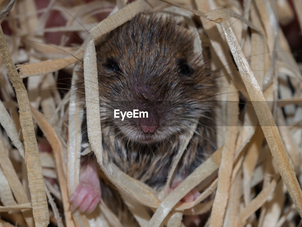
[[[165,183],[182,144],[180,136],[194,122],[198,126],[178,164],[178,178],[193,172],[216,147],[217,84],[209,61],[194,53],[195,38],[172,16],[144,12],[111,31],[96,46],[104,157],[154,189]],[[79,68],[77,87],[85,101],[83,65]],[[121,121],[114,118],[114,109],[139,109],[149,116]],[[91,164],[95,161],[87,161],[93,160],[91,156],[82,159],[80,186],[71,197],[74,209],[81,206],[76,194],[83,188],[82,169],[95,165]],[[90,169],[96,171],[95,166]],[[102,183],[101,193],[108,193],[107,198],[112,193],[106,188]],[[91,212],[96,206],[87,204],[80,210]]]

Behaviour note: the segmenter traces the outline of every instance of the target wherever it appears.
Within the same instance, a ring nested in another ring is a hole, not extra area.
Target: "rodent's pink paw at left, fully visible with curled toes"
[[[69,198],[71,211],[91,213],[101,200],[100,179],[95,163],[89,162],[80,169],[79,184]]]

